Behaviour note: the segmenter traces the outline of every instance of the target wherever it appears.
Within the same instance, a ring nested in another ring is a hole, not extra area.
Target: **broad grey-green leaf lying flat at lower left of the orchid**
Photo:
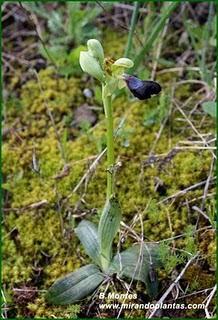
[[[64,305],[79,301],[91,294],[104,280],[99,268],[89,264],[58,279],[48,290],[49,303]]]

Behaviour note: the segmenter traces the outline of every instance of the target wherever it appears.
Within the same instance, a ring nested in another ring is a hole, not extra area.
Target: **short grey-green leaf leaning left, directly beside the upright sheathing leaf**
[[[79,223],[75,232],[87,255],[100,266],[100,248],[96,226],[90,221],[83,220]]]

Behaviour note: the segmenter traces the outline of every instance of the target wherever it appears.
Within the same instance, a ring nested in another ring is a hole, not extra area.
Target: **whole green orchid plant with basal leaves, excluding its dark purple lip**
[[[157,279],[155,268],[160,264],[158,248],[154,243],[136,244],[113,255],[113,241],[120,227],[121,208],[115,191],[114,130],[112,95],[122,89],[128,80],[137,80],[124,74],[133,67],[133,61],[120,58],[105,59],[101,43],[96,39],[87,42],[87,51],[80,53],[82,70],[102,85],[102,102],[107,125],[107,197],[98,226],[83,220],[75,229],[92,264],[81,267],[64,278],[58,279],[47,292],[47,301],[53,304],[70,304],[92,294],[101,284],[118,279],[130,278],[145,283],[147,293],[155,296]],[[140,81],[140,80],[139,80]],[[138,83],[139,87],[141,83]],[[128,85],[129,87],[129,85]],[[135,90],[135,88],[133,88]]]

